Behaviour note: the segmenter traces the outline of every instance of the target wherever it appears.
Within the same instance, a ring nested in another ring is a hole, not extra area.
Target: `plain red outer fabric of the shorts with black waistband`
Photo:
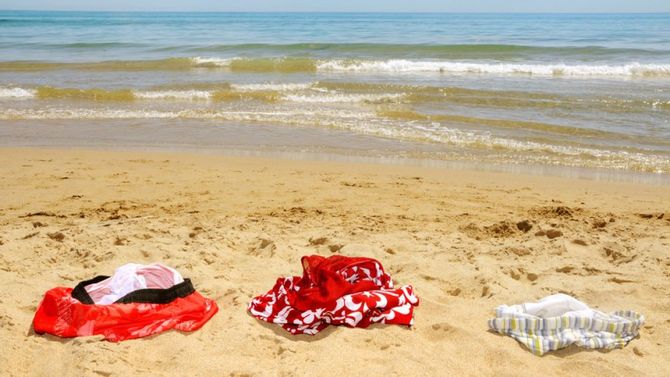
[[[72,288],[53,288],[44,296],[33,319],[38,334],[64,338],[102,335],[119,342],[176,329],[195,331],[219,310],[198,292],[169,304],[87,305],[72,298]]]

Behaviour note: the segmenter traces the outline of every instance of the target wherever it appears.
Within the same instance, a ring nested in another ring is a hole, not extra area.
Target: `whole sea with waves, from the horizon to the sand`
[[[670,177],[670,14],[0,11],[0,145]]]

